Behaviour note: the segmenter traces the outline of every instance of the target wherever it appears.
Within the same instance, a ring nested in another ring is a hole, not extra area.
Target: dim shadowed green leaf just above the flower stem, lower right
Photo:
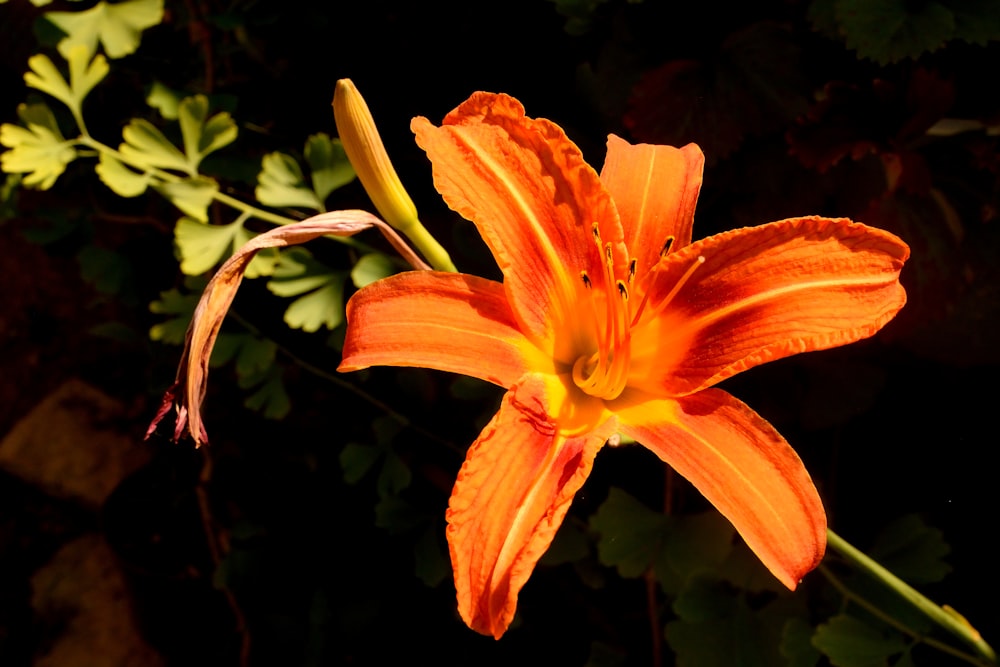
[[[944,579],[951,566],[944,557],[951,547],[943,533],[916,514],[903,516],[879,534],[871,557],[911,584],[931,584]]]

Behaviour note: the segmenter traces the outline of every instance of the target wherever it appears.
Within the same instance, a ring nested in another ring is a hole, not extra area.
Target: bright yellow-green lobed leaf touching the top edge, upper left
[[[85,11],[48,12],[45,18],[66,33],[58,47],[64,57],[80,46],[90,57],[100,41],[109,58],[121,58],[139,48],[143,30],[163,20],[163,0],[125,0],[114,5],[102,1]]]

